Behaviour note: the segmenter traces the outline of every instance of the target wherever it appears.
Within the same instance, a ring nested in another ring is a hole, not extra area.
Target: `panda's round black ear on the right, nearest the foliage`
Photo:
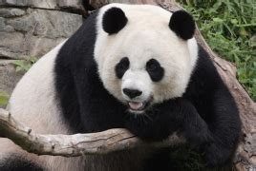
[[[172,14],[169,27],[183,40],[191,39],[196,28],[193,17],[184,10]]]

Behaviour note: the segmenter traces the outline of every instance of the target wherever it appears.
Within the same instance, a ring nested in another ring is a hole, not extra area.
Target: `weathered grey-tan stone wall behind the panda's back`
[[[83,22],[80,0],[0,0],[0,91],[24,74],[12,62],[40,58]],[[84,14],[84,13],[83,13]]]

